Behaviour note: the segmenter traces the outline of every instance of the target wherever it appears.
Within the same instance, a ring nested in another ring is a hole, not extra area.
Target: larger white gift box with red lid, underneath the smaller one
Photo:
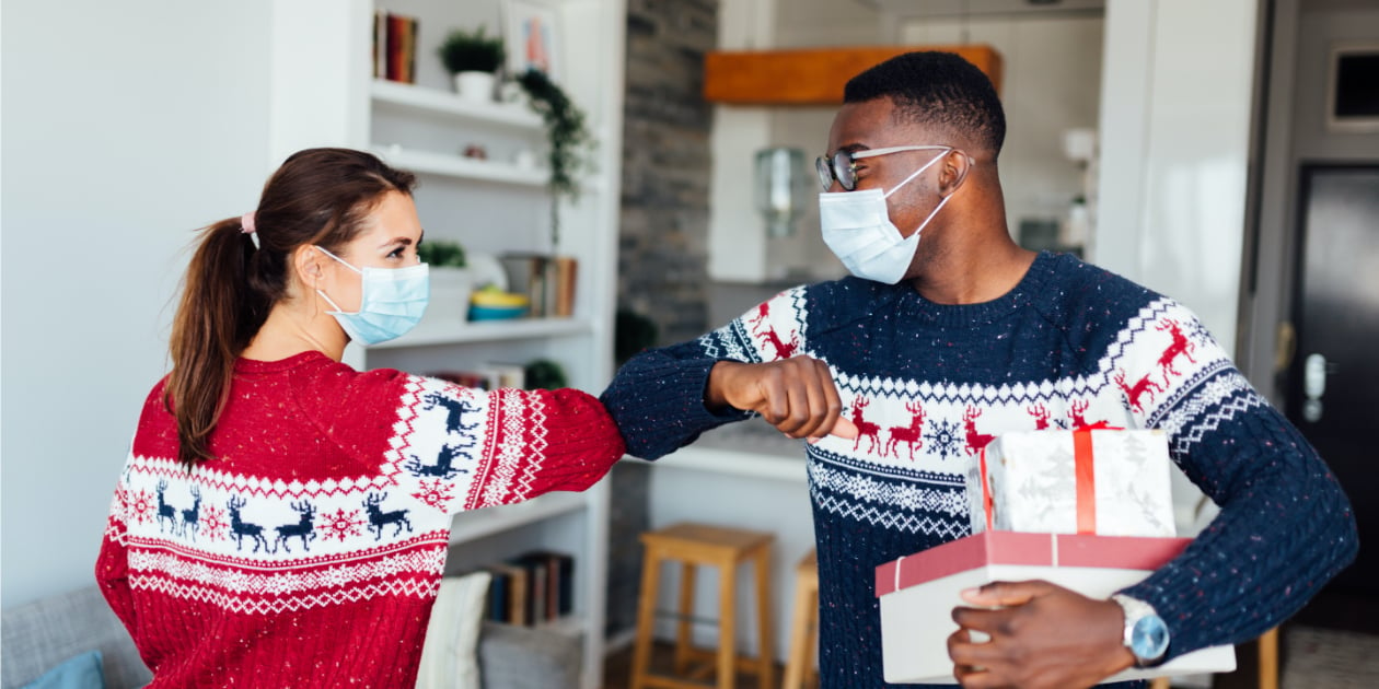
[[[1109,598],[1147,577],[1187,543],[1190,539],[993,531],[887,562],[876,568],[885,681],[956,683],[947,638],[957,631],[953,608],[969,605],[960,597],[964,588],[1043,579],[1087,597]],[[1125,670],[1105,682],[1233,670],[1236,649],[1212,646],[1160,667]]]

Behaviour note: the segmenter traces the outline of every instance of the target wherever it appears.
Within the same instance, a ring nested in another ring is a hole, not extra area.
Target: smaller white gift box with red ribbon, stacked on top
[[[972,533],[1176,535],[1160,430],[1007,433],[968,474]]]

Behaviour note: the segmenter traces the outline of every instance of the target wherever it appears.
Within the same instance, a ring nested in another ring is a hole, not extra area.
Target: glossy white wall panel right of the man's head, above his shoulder
[[[1233,351],[1256,0],[1109,0],[1092,259],[1193,309]]]

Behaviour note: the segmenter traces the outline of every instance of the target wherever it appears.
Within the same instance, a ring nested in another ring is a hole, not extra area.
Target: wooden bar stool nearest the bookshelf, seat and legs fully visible
[[[771,610],[768,584],[771,570],[771,542],[774,536],[754,531],[728,529],[705,524],[676,524],[641,535],[647,553],[641,564],[641,597],[637,604],[637,645],[632,657],[632,689],[662,686],[687,689],[710,686],[674,677],[650,674],[651,641],[654,635],[656,591],[661,586],[661,564],[680,562],[680,616],[676,624],[674,670],[690,679],[703,679],[717,674],[720,689],[732,689],[736,671],[756,672],[758,686],[774,683],[771,648]],[[736,573],[738,565],[756,565],[757,628],[761,650],[756,659],[736,656]],[[694,612],[695,572],[699,566],[718,568],[718,648],[698,649],[690,639],[690,616]],[[709,663],[691,672],[695,660]]]

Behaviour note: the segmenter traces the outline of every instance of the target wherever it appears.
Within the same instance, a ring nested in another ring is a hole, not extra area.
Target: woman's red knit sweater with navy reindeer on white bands
[[[164,383],[95,568],[152,688],[411,688],[451,515],[583,491],[623,453],[585,393],[485,393],[312,351],[240,360],[218,459],[188,471]]]

